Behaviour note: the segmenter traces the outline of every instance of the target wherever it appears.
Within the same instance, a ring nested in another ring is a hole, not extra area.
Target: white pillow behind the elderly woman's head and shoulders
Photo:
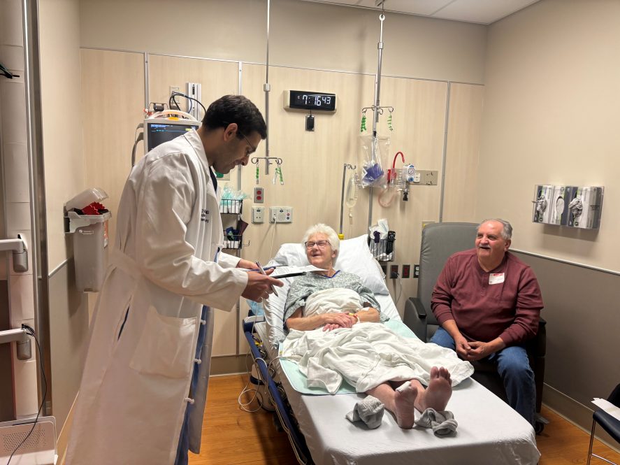
[[[375,294],[389,295],[385,276],[373,254],[370,253],[367,241],[368,236],[366,235],[340,241],[340,251],[334,268],[356,274]],[[308,264],[308,258],[305,256],[305,250],[301,243],[287,243],[280,246],[280,250],[266,266],[306,266]],[[278,295],[270,294],[269,299],[264,302],[269,343],[273,347],[277,347],[286,337],[284,334],[284,304],[287,301],[291,282],[295,278],[282,278],[281,280],[284,285],[277,287]]]

